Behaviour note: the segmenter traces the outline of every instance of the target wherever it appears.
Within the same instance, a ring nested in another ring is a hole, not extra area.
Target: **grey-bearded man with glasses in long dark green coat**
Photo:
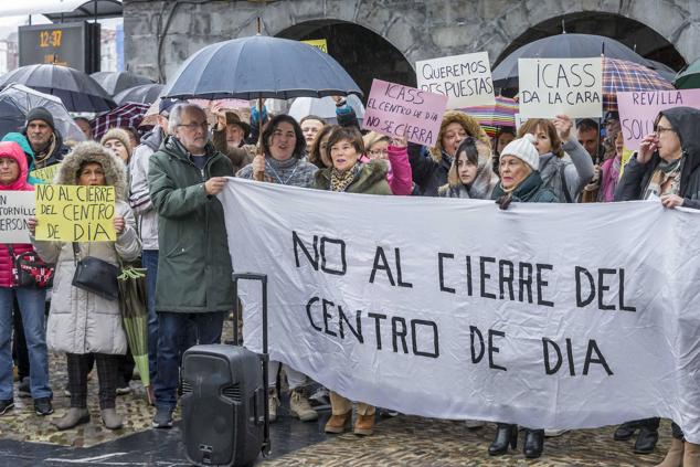
[[[219,343],[224,316],[234,305],[224,213],[216,199],[224,177],[233,177],[233,166],[209,141],[206,115],[200,107],[176,105],[168,132],[148,171],[160,251],[156,428],[172,426],[188,325],[198,343]]]

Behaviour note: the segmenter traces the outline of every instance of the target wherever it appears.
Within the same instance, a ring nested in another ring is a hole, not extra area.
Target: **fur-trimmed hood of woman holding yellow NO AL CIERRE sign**
[[[53,179],[56,184],[77,184],[77,171],[85,162],[97,162],[105,171],[106,184],[116,189],[117,200],[126,200],[126,167],[121,159],[96,141],[84,141],[73,148]]]

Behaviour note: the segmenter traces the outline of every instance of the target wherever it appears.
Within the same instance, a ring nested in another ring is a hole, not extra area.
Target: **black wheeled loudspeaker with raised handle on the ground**
[[[182,437],[198,466],[250,466],[269,453],[267,408],[267,277],[234,274],[263,284],[263,354],[235,346],[194,346],[182,355]],[[235,295],[237,296],[237,294]]]

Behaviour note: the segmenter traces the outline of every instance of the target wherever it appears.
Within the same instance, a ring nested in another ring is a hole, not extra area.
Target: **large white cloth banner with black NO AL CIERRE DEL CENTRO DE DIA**
[[[700,212],[240,179],[219,199],[234,270],[268,277],[271,360],[407,414],[553,429],[664,416],[700,443]],[[259,285],[240,293],[259,351]]]

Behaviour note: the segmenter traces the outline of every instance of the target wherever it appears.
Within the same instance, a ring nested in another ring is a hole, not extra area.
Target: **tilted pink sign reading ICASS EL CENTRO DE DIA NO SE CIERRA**
[[[388,136],[406,136],[433,147],[447,106],[447,96],[381,79],[372,82],[363,128]]]

